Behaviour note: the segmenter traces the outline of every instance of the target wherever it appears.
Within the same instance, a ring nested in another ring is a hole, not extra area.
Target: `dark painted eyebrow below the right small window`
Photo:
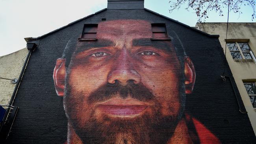
[[[132,41],[133,46],[153,46],[161,50],[173,51],[173,47],[170,41],[151,41],[148,38],[145,39],[134,39]]]

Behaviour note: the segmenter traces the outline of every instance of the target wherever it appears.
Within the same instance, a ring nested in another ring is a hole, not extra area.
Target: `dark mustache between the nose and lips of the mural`
[[[122,85],[119,81],[115,83],[106,83],[96,89],[88,96],[88,103],[104,102],[110,98],[119,95],[125,99],[128,96],[142,102],[148,102],[155,98],[154,94],[142,83],[135,84],[132,80],[127,81],[126,85]]]

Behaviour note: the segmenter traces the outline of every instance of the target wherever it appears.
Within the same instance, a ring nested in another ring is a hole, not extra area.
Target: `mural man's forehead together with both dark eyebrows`
[[[173,51],[171,41],[151,41],[152,27],[146,20],[111,20],[98,24],[96,38],[98,41],[82,41],[76,44],[75,53],[90,48],[126,46],[153,46],[158,49]]]

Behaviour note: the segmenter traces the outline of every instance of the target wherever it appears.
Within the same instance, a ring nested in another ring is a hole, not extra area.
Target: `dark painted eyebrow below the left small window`
[[[108,47],[108,46],[114,46],[114,42],[109,41],[109,40],[82,41],[82,42],[78,42],[74,53],[78,54],[80,52],[89,50],[91,48],[104,48],[104,47]]]

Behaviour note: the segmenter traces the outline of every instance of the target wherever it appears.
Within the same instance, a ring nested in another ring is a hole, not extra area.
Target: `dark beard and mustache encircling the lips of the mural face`
[[[116,95],[124,99],[130,96],[142,102],[154,103],[151,107],[151,113],[145,112],[135,118],[110,118],[106,114],[96,115],[95,109],[92,107],[86,124],[81,127],[78,118],[76,118],[79,113],[72,109],[72,105],[76,105],[73,103],[75,102],[73,98],[81,98],[82,100],[84,94],[83,92],[74,92],[67,87],[70,88],[68,84],[65,88],[64,99],[67,107],[65,109],[66,114],[76,134],[84,144],[165,144],[172,137],[183,113],[181,111],[178,118],[163,116],[160,112],[161,104],[142,83],[135,85],[130,82],[125,86],[118,82],[115,84],[107,83],[88,96],[88,104],[103,102]],[[100,117],[101,120],[98,120],[97,117]]]

